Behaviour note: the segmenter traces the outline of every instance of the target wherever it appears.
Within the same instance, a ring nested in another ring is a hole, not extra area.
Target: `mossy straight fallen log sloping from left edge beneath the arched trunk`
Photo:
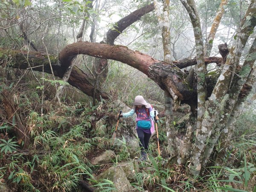
[[[9,50],[9,49],[2,49],[0,48],[0,65],[6,67],[14,67],[19,69],[31,69],[35,71],[44,72],[52,74],[51,68],[49,65],[48,57],[46,54],[41,52],[27,52],[27,51],[18,51],[18,50]],[[28,59],[26,59],[26,57]],[[7,58],[7,60],[6,60]],[[66,71],[66,67],[62,67],[60,62],[58,61],[57,55],[50,55],[49,56],[52,70],[54,76],[58,76],[62,78]],[[84,73],[78,67],[74,66],[73,70],[70,74],[70,78],[67,81],[73,87],[78,88],[83,93],[87,94],[88,96],[93,96],[93,82],[92,77],[89,76],[87,73]],[[102,96],[103,99],[108,99],[109,95],[102,90],[96,90],[96,99],[100,99]]]

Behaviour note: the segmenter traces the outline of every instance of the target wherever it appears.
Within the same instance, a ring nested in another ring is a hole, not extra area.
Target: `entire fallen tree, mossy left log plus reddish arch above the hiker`
[[[51,74],[49,61],[46,54],[41,52],[27,52],[0,49],[0,65],[15,67],[20,69],[32,69],[43,71]],[[163,61],[158,61],[149,55],[145,55],[138,51],[132,51],[124,46],[111,46],[107,44],[97,44],[89,42],[78,42],[64,48],[60,55],[60,61],[56,55],[50,55],[52,70],[55,76],[63,77],[65,70],[69,67],[70,62],[78,54],[87,54],[99,58],[108,58],[116,61],[121,61],[145,73],[149,78],[153,79],[163,90],[166,90],[168,84],[171,84],[172,96],[177,95],[184,103],[192,104],[192,100],[196,102],[196,90],[193,87],[193,77],[189,77],[180,69],[196,64],[196,59],[174,61],[174,65],[167,64]],[[7,56],[8,55],[8,56]],[[7,58],[7,60],[6,60]],[[28,58],[28,59],[26,59]],[[222,58],[211,57],[205,58],[205,63],[209,64],[222,62]],[[179,69],[180,68],[180,69]],[[186,79],[187,77],[187,79]],[[190,80],[189,80],[190,78]],[[186,82],[188,81],[188,82]],[[78,67],[74,66],[68,80],[70,85],[78,88],[88,96],[93,96],[93,79],[88,74],[84,73]],[[177,83],[177,85],[176,85]],[[170,91],[170,90],[168,90]],[[102,90],[96,90],[96,99],[108,99],[107,93]],[[192,99],[194,98],[194,99]],[[191,100],[192,99],[192,100]]]

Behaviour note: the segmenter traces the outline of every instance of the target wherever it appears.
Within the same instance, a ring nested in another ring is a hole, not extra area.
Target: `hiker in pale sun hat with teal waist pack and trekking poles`
[[[119,117],[129,117],[136,113],[136,131],[140,139],[141,158],[147,159],[146,151],[148,151],[148,143],[151,134],[154,133],[154,110],[152,106],[145,101],[143,96],[136,96],[134,99],[134,108],[128,113],[121,113]]]

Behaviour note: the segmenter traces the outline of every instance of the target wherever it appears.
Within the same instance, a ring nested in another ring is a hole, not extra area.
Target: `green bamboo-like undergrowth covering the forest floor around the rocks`
[[[12,86],[6,87],[13,91]],[[129,96],[133,96],[134,91],[136,87],[125,92],[120,99],[128,93],[126,102],[131,103],[132,97]],[[78,191],[79,182],[84,180],[99,191],[116,191],[113,181],[96,180],[95,174],[122,162],[137,162],[138,157],[132,157],[131,151],[134,148],[139,151],[139,148],[129,146],[124,137],[116,139],[113,145],[111,136],[117,111],[108,108],[107,102],[102,100],[96,106],[90,102],[74,102],[70,99],[73,98],[72,94],[67,92],[60,106],[52,104],[52,95],[41,105],[41,93],[35,88],[27,93],[23,87],[19,92],[13,91],[12,96],[20,116],[26,117],[24,125],[28,130],[30,146],[24,148],[23,142],[17,140],[15,118],[0,119],[0,183],[6,184],[11,190],[73,192]],[[255,125],[253,118],[247,123]],[[169,156],[164,124],[165,119],[160,118],[161,157],[158,156],[156,135],[153,135],[148,160],[138,163],[138,169],[134,169],[134,176],[129,180],[137,191],[256,191],[255,127],[239,130],[232,140],[232,147],[221,159],[224,164],[208,167],[204,176],[195,178],[189,176],[189,166],[166,164]],[[109,149],[115,152],[111,163],[91,164],[90,160],[98,152]]]

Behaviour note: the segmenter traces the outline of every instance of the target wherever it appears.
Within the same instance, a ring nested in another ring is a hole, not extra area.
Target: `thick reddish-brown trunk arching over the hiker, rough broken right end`
[[[186,102],[196,101],[192,98],[195,87],[189,89],[183,78],[186,73],[174,65],[156,60],[138,51],[132,51],[124,46],[110,46],[107,44],[93,44],[78,42],[65,47],[59,54],[61,65],[68,67],[74,56],[86,54],[93,57],[113,59],[134,67],[149,78],[153,79],[163,90],[167,90],[173,98],[179,97]],[[190,86],[190,85],[189,85]]]

